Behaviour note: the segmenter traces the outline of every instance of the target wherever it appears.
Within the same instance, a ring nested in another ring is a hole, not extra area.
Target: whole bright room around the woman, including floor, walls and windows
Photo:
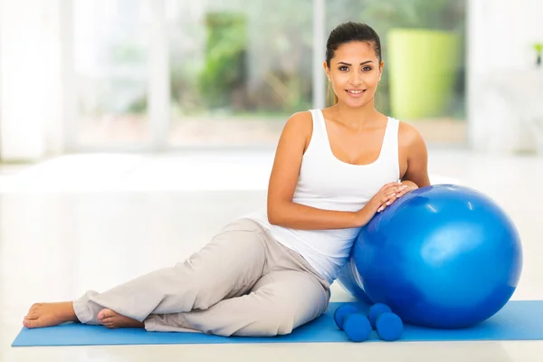
[[[541,0],[0,0],[0,360],[358,357],[335,344],[9,348],[34,302],[173,265],[265,207],[286,120],[331,101],[325,45],[347,21],[381,37],[377,109],[423,134],[433,184],[471,186],[510,214],[525,254],[513,299],[543,299],[542,15]],[[332,300],[349,298],[332,284]],[[365,353],[543,352],[415,345]]]

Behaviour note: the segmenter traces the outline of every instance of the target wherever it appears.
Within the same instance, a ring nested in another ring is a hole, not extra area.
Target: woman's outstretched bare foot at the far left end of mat
[[[71,321],[78,321],[71,301],[36,303],[28,310],[23,325],[26,328],[33,329],[58,326]]]

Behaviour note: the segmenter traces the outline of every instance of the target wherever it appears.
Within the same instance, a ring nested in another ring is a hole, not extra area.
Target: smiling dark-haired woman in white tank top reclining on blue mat
[[[340,24],[329,35],[323,65],[336,104],[288,120],[266,211],[226,225],[174,267],[79,300],[34,304],[24,326],[79,321],[274,336],[319,317],[360,227],[398,197],[429,185],[419,133],[375,109],[384,65],[376,32]]]

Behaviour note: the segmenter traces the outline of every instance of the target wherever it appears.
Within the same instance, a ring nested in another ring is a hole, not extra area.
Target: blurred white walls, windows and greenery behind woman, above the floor
[[[538,0],[0,0],[0,157],[273,148],[326,107],[338,24],[370,24],[376,107],[430,146],[542,148]],[[539,120],[538,120],[539,119]]]

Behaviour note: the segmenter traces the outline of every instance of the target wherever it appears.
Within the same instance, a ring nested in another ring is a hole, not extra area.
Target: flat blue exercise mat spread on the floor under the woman
[[[367,306],[360,303],[330,303],[329,310],[319,319],[295,329],[287,336],[270,338],[226,338],[203,333],[147,332],[145,329],[106,329],[66,323],[44,329],[23,328],[12,346],[346,342],[348,338],[338,329],[333,318],[334,310],[343,304],[353,304],[362,312],[367,310]],[[425,329],[406,325],[399,341],[533,339],[543,339],[543,300],[511,300],[491,319],[469,329]],[[375,331],[370,340],[380,340]]]

